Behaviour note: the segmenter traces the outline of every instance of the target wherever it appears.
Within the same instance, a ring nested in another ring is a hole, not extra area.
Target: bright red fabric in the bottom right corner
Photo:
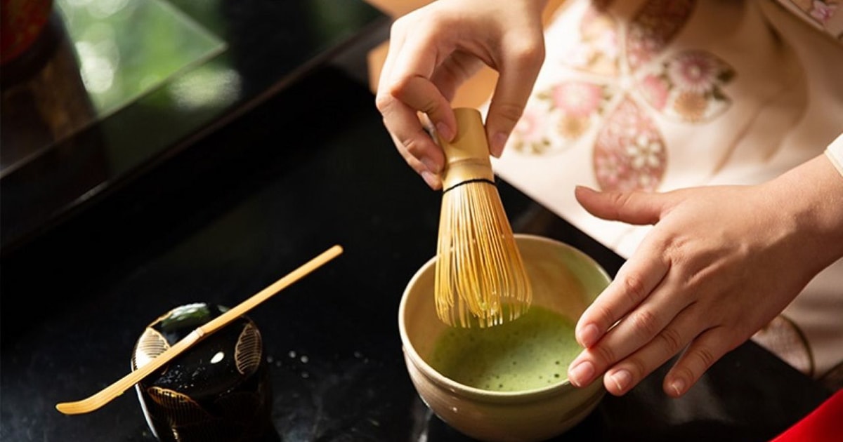
[[[843,390],[819,404],[793,426],[771,442],[840,442],[843,441]]]

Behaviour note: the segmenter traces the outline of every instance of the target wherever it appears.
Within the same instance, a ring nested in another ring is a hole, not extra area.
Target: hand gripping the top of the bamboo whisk
[[[442,187],[445,159],[427,130],[453,140],[451,100],[484,65],[498,73],[486,115],[489,150],[503,152],[545,59],[546,3],[436,0],[395,20],[376,104],[401,157],[432,189]]]

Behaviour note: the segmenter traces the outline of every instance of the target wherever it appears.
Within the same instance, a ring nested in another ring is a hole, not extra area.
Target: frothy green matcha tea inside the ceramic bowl
[[[495,327],[446,329],[427,362],[466,386],[524,391],[565,381],[581,350],[570,320],[531,306],[518,320]]]

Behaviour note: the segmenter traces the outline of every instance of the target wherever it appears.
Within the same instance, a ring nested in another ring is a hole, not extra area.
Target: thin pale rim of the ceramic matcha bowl
[[[527,240],[527,241],[535,241],[535,242],[550,242],[556,247],[561,247],[566,249],[566,251],[571,252],[577,255],[577,258],[583,259],[588,264],[593,265],[594,269],[598,270],[599,274],[601,274],[605,280],[608,282],[611,281],[611,276],[609,273],[604,269],[604,267],[597,262],[594,258],[589,256],[587,253],[584,253],[582,250],[573,247],[566,242],[562,242],[555,238],[551,237],[543,237],[540,235],[535,235],[531,233],[514,233],[513,236],[516,240]],[[428,269],[430,269],[434,264],[436,264],[437,257],[434,255],[432,258],[429,258],[427,262],[421,265],[419,269],[416,270],[416,273],[413,274],[411,279],[407,282],[403,293],[401,294],[401,300],[398,306],[398,329],[401,338],[401,349],[407,355],[407,357],[411,360],[413,364],[419,365],[419,370],[423,375],[431,378],[432,381],[439,386],[443,386],[444,388],[448,389],[452,392],[459,391],[461,394],[467,397],[471,397],[474,399],[478,399],[485,402],[530,402],[537,399],[556,396],[559,394],[564,393],[565,391],[569,391],[571,387],[573,387],[572,383],[566,377],[564,381],[557,382],[555,384],[551,384],[550,386],[542,386],[540,388],[534,388],[530,390],[521,390],[521,391],[491,391],[491,390],[483,390],[481,388],[476,388],[474,386],[467,386],[461,384],[457,381],[454,381],[447,376],[435,370],[431,365],[427,364],[427,361],[421,357],[421,354],[418,354],[416,348],[412,345],[410,337],[407,333],[406,326],[405,326],[405,313],[406,313],[406,303],[407,298],[409,297],[411,287],[416,285],[416,281],[421,278],[421,275],[424,274]],[[602,386],[602,382],[599,380],[594,381],[589,386],[583,387],[584,389],[592,388],[596,384]],[[576,388],[576,387],[575,387]],[[594,394],[599,394],[599,388],[595,391]]]

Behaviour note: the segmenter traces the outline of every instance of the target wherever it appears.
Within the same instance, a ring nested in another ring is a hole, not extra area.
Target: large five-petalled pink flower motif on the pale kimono
[[[593,136],[600,189],[658,189],[668,146],[653,117],[694,124],[731,104],[722,89],[734,75],[728,64],[706,51],[670,51],[694,5],[650,0],[624,25],[604,3],[591,3],[577,39],[560,60],[546,61],[572,75],[534,91],[524,111],[528,121],[513,131],[513,148],[550,154]]]

